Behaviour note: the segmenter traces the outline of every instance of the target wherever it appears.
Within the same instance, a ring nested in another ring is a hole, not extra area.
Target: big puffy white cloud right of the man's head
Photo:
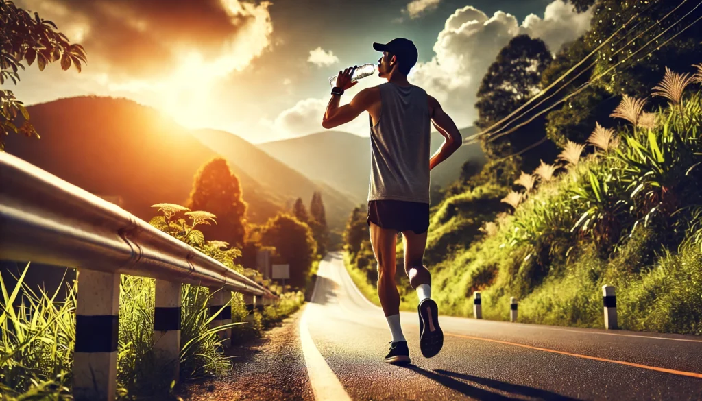
[[[489,17],[472,6],[459,8],[439,32],[433,47],[435,55],[428,62],[418,63],[410,80],[437,98],[459,127],[472,125],[477,118],[475,102],[480,81],[513,37],[529,34],[541,38],[555,52],[583,34],[591,16],[590,11],[577,15],[572,5],[562,0],[548,5],[543,18],[529,15],[521,25],[514,15],[503,11]]]

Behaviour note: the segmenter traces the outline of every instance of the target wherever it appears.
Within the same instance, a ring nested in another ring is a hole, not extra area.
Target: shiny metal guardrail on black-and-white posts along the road
[[[114,400],[121,274],[156,279],[154,350],[168,359],[176,379],[180,284],[211,289],[211,326],[231,322],[225,305],[232,291],[245,294],[246,303],[277,298],[119,206],[6,152],[0,152],[0,259],[78,269],[76,400]]]

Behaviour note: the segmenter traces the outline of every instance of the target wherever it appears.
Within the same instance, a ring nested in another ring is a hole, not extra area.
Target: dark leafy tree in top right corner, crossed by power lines
[[[691,71],[691,65],[702,62],[702,44],[699,41],[702,28],[696,24],[682,31],[691,21],[699,18],[702,11],[693,11],[673,27],[673,24],[692,11],[696,4],[664,0],[645,3],[617,0],[575,1],[578,10],[593,3],[595,8],[588,32],[564,46],[542,77],[544,86],[551,84],[614,34],[610,44],[600,48],[579,70],[559,82],[565,84],[578,72],[585,70],[581,77],[555,95],[555,99],[563,98],[590,81],[590,87],[547,114],[548,137],[559,145],[563,145],[567,140],[583,143],[595,128],[596,122],[606,125],[611,121],[608,116],[618,104],[622,93],[639,98],[648,97],[650,88],[656,86],[663,78],[665,67],[677,72],[686,72]],[[680,6],[677,11],[663,19],[677,6]],[[630,22],[628,27],[616,32],[635,15],[635,20]],[[672,29],[656,39],[668,27]],[[661,46],[676,34],[678,36],[675,39]],[[640,38],[632,41],[639,35]],[[632,43],[629,43],[630,41]],[[644,46],[649,41],[652,41],[651,44]],[[636,53],[637,51],[639,52]],[[653,53],[648,55],[651,51]],[[632,57],[626,60],[629,56]],[[600,75],[602,77],[597,79]],[[652,107],[664,103],[663,99],[649,98],[649,105]]]

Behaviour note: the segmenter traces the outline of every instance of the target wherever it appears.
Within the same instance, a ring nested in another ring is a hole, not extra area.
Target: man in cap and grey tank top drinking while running
[[[385,362],[409,363],[409,348],[399,322],[399,293],[395,286],[397,233],[404,242],[404,269],[419,296],[420,349],[433,357],[444,345],[439,309],[431,299],[431,275],[422,264],[429,228],[429,171],[461,146],[461,133],[435,98],[407,81],[417,62],[417,48],[408,39],[374,43],[383,52],[378,76],[385,84],[366,88],[339,107],[341,95],[357,82],[356,67],[339,71],[336,87],[322,120],[325,129],[346,124],[362,112],[371,125],[371,178],[368,194],[368,225],[373,254],[378,261],[378,297],[388,320],[392,341]],[[430,155],[430,121],[446,138]]]

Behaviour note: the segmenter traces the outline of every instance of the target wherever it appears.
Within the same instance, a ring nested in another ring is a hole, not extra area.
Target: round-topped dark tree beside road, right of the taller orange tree
[[[290,284],[304,287],[317,252],[312,229],[294,216],[280,213],[263,228],[261,244],[273,246],[279,257],[290,265]]]

